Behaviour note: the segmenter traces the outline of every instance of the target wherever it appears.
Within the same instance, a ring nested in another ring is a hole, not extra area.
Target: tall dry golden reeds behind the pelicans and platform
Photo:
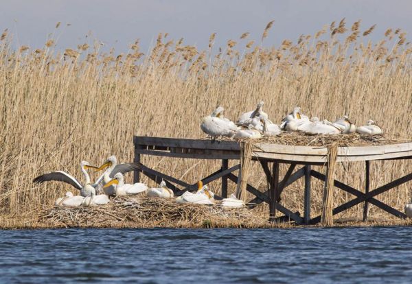
[[[374,119],[390,137],[411,138],[412,47],[406,32],[390,28],[372,43],[368,37],[374,26],[361,27],[361,21],[348,26],[343,19],[313,35],[271,46],[271,29],[276,29],[273,22],[259,41],[250,40],[246,32],[225,47],[216,47],[212,34],[205,50],[159,34],[148,54],[140,51],[138,40],[124,54],[102,52],[97,41],[63,51],[53,34],[40,49],[15,48],[13,35],[5,30],[0,34],[1,215],[36,215],[71,190],[57,182],[33,185],[38,174],[64,170],[80,177],[80,161],[100,164],[111,154],[120,162],[133,161],[134,134],[205,138],[201,118],[217,105],[236,120],[264,100],[264,110],[275,123],[301,106],[310,117],[349,115],[358,125]],[[220,165],[172,158],[144,157],[142,162],[190,182]],[[371,188],[411,171],[411,163],[404,161],[374,162]],[[362,172],[362,163],[342,163],[336,178],[363,188]],[[248,180],[266,189],[257,163],[252,163]],[[236,185],[230,186],[229,193],[234,192]],[[409,187],[402,185],[380,200],[403,210],[411,200]],[[220,182],[211,189],[220,193]],[[301,211],[302,189],[301,182],[288,187],[282,202]],[[314,181],[312,189],[312,212],[319,214],[321,183]],[[352,198],[341,191],[334,195],[337,204]],[[266,209],[262,205],[254,210]],[[374,217],[380,211],[371,206],[370,213]],[[359,204],[339,217],[361,214]]]

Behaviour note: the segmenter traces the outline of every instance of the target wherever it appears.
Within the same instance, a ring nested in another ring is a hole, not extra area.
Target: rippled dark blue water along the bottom
[[[412,283],[412,228],[0,231],[0,283]]]

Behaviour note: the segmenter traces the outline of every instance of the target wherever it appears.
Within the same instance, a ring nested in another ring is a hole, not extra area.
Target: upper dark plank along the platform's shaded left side
[[[236,150],[240,151],[240,144],[237,141],[214,141],[202,139],[180,139],[167,137],[133,137],[135,145],[156,145],[163,147],[182,147],[193,149],[211,150]]]

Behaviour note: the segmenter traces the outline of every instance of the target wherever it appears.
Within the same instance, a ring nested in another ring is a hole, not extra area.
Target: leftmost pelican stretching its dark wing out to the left
[[[82,161],[80,163],[80,169],[82,170],[84,179],[86,180],[84,185],[82,185],[76,178],[65,173],[64,171],[54,171],[49,174],[43,174],[41,176],[34,178],[33,182],[41,183],[41,182],[52,181],[52,180],[67,182],[69,185],[72,185],[76,189],[80,190],[81,196],[89,196],[92,192],[95,192],[95,187],[97,186],[97,184],[91,185],[90,176],[87,173],[87,169],[97,169],[97,168],[98,167],[91,165],[87,161]]]

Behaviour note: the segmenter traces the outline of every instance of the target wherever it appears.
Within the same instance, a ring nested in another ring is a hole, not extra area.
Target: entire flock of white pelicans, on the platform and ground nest
[[[229,139],[260,139],[282,134],[282,132],[301,132],[312,135],[336,135],[336,134],[358,134],[377,135],[383,134],[383,130],[373,120],[369,119],[365,126],[356,127],[347,115],[333,122],[327,119],[320,120],[319,117],[309,118],[301,112],[298,106],[288,113],[279,124],[273,123],[267,113],[263,110],[264,102],[260,101],[256,108],[242,113],[236,123],[224,116],[225,109],[218,106],[210,115],[201,120],[201,130],[211,137],[212,141],[221,137]],[[52,171],[34,178],[34,183],[49,181],[65,182],[78,190],[78,195],[67,191],[65,196],[58,198],[55,206],[100,206],[110,202],[109,196],[135,196],[144,194],[150,198],[175,198],[174,191],[161,181],[159,187],[149,188],[146,184],[137,182],[128,184],[124,182],[124,174],[139,170],[140,163],[118,164],[115,156],[109,156],[100,167],[92,165],[87,161],[80,163],[80,171],[84,182],[80,182],[65,171]],[[94,172],[103,171],[102,174],[91,182],[88,170]],[[221,199],[221,198],[218,198]],[[176,203],[192,204],[215,204],[215,195],[202,181],[198,182],[197,191],[185,191],[181,196],[174,199]],[[233,194],[224,198],[220,206],[237,208],[244,206],[244,202]],[[412,216],[412,203],[405,206],[407,215]]]

